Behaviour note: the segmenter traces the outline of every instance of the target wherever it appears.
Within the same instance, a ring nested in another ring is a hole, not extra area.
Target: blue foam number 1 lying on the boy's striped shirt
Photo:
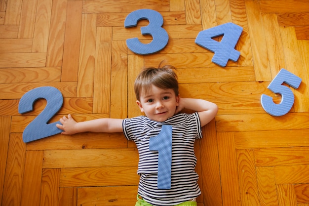
[[[162,125],[160,133],[150,138],[149,150],[158,151],[158,189],[171,189],[172,126]]]

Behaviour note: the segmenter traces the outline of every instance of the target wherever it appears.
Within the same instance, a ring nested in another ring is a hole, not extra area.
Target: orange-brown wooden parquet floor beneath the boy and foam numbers
[[[132,11],[164,19],[167,46],[137,55],[124,28]],[[237,62],[211,62],[194,43],[205,29],[243,28]],[[134,206],[138,152],[123,134],[56,134],[24,143],[22,132],[46,105],[18,113],[23,94],[58,88],[64,103],[50,121],[140,115],[133,83],[161,60],[178,68],[182,97],[215,102],[219,112],[195,144],[198,206],[309,206],[308,0],[0,0],[0,203],[2,206]],[[273,117],[261,95],[285,68],[302,78],[295,102]],[[39,128],[38,128],[39,129]]]

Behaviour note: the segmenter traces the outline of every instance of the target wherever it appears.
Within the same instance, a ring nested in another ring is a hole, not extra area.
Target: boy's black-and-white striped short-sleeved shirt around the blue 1
[[[157,188],[158,152],[149,150],[150,138],[157,136],[164,124],[172,125],[171,189]],[[178,114],[165,122],[139,116],[124,119],[122,126],[125,137],[133,140],[139,151],[138,194],[146,202],[154,206],[173,206],[200,195],[198,174],[194,171],[194,140],[202,137],[197,113]]]

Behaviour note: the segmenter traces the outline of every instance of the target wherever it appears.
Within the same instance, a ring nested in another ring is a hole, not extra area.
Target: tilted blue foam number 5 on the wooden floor
[[[278,117],[287,114],[294,104],[294,94],[289,87],[282,85],[283,82],[297,89],[302,79],[285,69],[281,69],[277,76],[270,82],[267,88],[273,93],[280,94],[281,102],[275,104],[270,96],[262,94],[261,104],[263,109],[272,116]]]

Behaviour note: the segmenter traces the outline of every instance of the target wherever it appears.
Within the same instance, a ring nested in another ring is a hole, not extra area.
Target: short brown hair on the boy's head
[[[144,69],[136,78],[134,83],[134,91],[136,99],[140,100],[141,93],[147,93],[154,85],[163,89],[173,89],[175,95],[178,96],[178,81],[177,75],[173,70],[176,70],[174,66],[165,65],[158,68],[149,67]]]

